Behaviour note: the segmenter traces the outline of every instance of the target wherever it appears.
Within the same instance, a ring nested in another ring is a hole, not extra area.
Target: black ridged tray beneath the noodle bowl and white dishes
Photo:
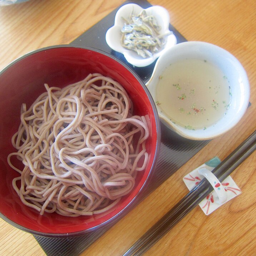
[[[137,3],[142,8],[151,6],[146,0],[126,1],[127,3]],[[143,68],[134,67],[127,63],[124,56],[109,48],[105,41],[105,33],[114,24],[114,17],[116,11],[120,6],[112,13],[106,16],[104,19],[95,24],[92,28],[87,30],[71,44],[77,46],[91,46],[107,53],[110,53],[118,59],[128,64],[141,79],[146,83],[153,72],[155,62],[151,65]],[[170,30],[173,31],[177,37],[177,43],[186,41],[186,39],[170,24]],[[209,141],[192,141],[185,139],[161,123],[161,146],[159,158],[157,160],[156,168],[153,172],[151,182],[143,194],[134,202],[133,206],[136,206],[140,201],[149,195],[154,189],[162,184],[167,178],[169,178],[174,172],[176,172],[183,164],[185,164],[191,157],[193,157],[200,149],[202,149]],[[131,208],[129,208],[131,210]],[[126,211],[124,216],[128,211]],[[119,217],[119,219],[120,219]],[[117,222],[116,220],[115,222]],[[115,222],[99,228],[96,231],[86,233],[82,236],[69,237],[69,238],[49,238],[43,236],[34,235],[39,245],[43,248],[46,255],[55,256],[75,256],[86,250],[95,240],[97,240],[110,226],[113,226]]]

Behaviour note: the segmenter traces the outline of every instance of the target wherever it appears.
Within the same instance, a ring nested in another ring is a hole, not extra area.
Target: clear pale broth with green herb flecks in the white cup
[[[230,106],[228,78],[207,60],[184,59],[159,76],[156,104],[173,123],[207,129]]]

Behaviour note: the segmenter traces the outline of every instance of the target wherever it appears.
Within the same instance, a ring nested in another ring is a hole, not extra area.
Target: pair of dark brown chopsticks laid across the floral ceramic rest
[[[228,155],[212,173],[222,182],[256,149],[256,131]],[[181,201],[154,224],[123,256],[139,256],[151,248],[161,237],[187,215],[212,191],[211,184],[203,179]]]

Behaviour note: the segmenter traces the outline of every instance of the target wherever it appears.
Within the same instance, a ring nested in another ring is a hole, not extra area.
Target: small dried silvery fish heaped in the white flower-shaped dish
[[[138,16],[131,14],[129,19],[124,19],[121,29],[121,45],[124,48],[135,51],[143,58],[152,57],[166,44],[168,34],[159,34],[161,27],[153,15],[147,15],[142,10]]]

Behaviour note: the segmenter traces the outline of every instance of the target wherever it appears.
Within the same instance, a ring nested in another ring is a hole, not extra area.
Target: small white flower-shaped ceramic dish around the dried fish
[[[164,45],[164,48],[161,51],[154,53],[152,57],[148,58],[143,58],[142,56],[139,56],[135,51],[124,48],[121,45],[121,29],[124,25],[123,18],[128,19],[131,14],[138,15],[139,13],[141,13],[142,10],[143,8],[137,4],[123,5],[122,7],[120,7],[120,9],[118,9],[115,15],[114,26],[109,28],[106,33],[106,42],[109,47],[115,51],[118,51],[119,53],[122,53],[125,59],[136,67],[146,67],[150,65],[160,55],[162,55],[165,50],[171,48],[177,43],[176,36],[171,32],[167,36],[167,42]],[[161,27],[161,30],[159,31],[160,34],[167,34],[170,32],[170,17],[166,9],[164,9],[162,6],[151,6],[144,10],[146,11],[147,15],[153,15],[156,18],[158,25]]]

